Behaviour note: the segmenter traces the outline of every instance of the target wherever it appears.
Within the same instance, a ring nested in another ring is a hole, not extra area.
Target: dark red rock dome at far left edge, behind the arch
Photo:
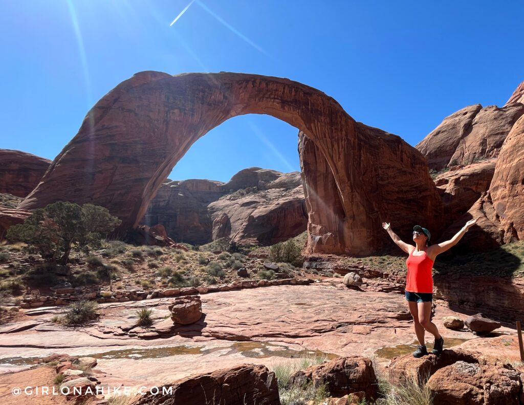
[[[51,161],[19,150],[0,149],[0,193],[25,197],[40,182]]]

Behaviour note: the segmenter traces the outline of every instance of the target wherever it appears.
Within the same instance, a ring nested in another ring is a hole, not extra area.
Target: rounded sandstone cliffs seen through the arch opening
[[[302,233],[307,222],[300,173],[260,168],[241,170],[227,183],[162,184],[143,219],[162,224],[178,242],[198,245],[221,237],[274,244]]]

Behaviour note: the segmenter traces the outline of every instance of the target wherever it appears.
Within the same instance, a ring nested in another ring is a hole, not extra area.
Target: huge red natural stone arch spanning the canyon
[[[336,195],[315,194],[320,184],[310,184],[308,195],[316,195],[311,210],[322,209],[320,200],[328,207],[337,201],[330,215],[339,225],[308,226],[326,232],[310,235],[308,251],[370,253],[386,241],[383,220],[397,228],[413,221],[440,228],[442,206],[425,159],[400,137],[355,122],[332,97],[307,85],[227,72],[146,71],[120,83],[89,111],[19,207],[89,202],[120,217],[122,230],[136,227],[191,145],[243,114],[268,114],[299,128],[313,142],[316,160],[331,169],[329,190]],[[307,184],[308,171],[304,179]]]

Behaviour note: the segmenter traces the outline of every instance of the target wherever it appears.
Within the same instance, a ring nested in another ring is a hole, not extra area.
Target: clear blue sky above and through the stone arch
[[[286,77],[357,121],[416,145],[524,80],[522,1],[0,0],[0,148],[53,159],[86,112],[143,70]],[[199,139],[170,178],[227,181],[300,170],[297,129],[235,117]]]

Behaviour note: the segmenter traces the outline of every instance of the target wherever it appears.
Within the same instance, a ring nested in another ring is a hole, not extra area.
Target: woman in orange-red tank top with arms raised
[[[477,219],[466,222],[466,225],[457,232],[450,240],[436,245],[431,245],[429,240],[431,234],[428,229],[416,225],[413,227],[413,241],[415,246],[402,242],[400,238],[391,230],[389,223],[383,222],[382,226],[388,232],[393,242],[399,248],[405,251],[409,256],[406,260],[408,266],[408,275],[406,277],[406,300],[408,301],[409,312],[413,316],[415,333],[419,341],[417,350],[413,352],[414,357],[422,357],[428,354],[425,347],[424,331],[428,331],[435,336],[433,345],[433,354],[442,353],[444,339],[436,328],[436,325],[430,321],[431,302],[433,300],[433,275],[431,269],[437,255],[446,251],[464,236],[467,230],[472,227]]]

